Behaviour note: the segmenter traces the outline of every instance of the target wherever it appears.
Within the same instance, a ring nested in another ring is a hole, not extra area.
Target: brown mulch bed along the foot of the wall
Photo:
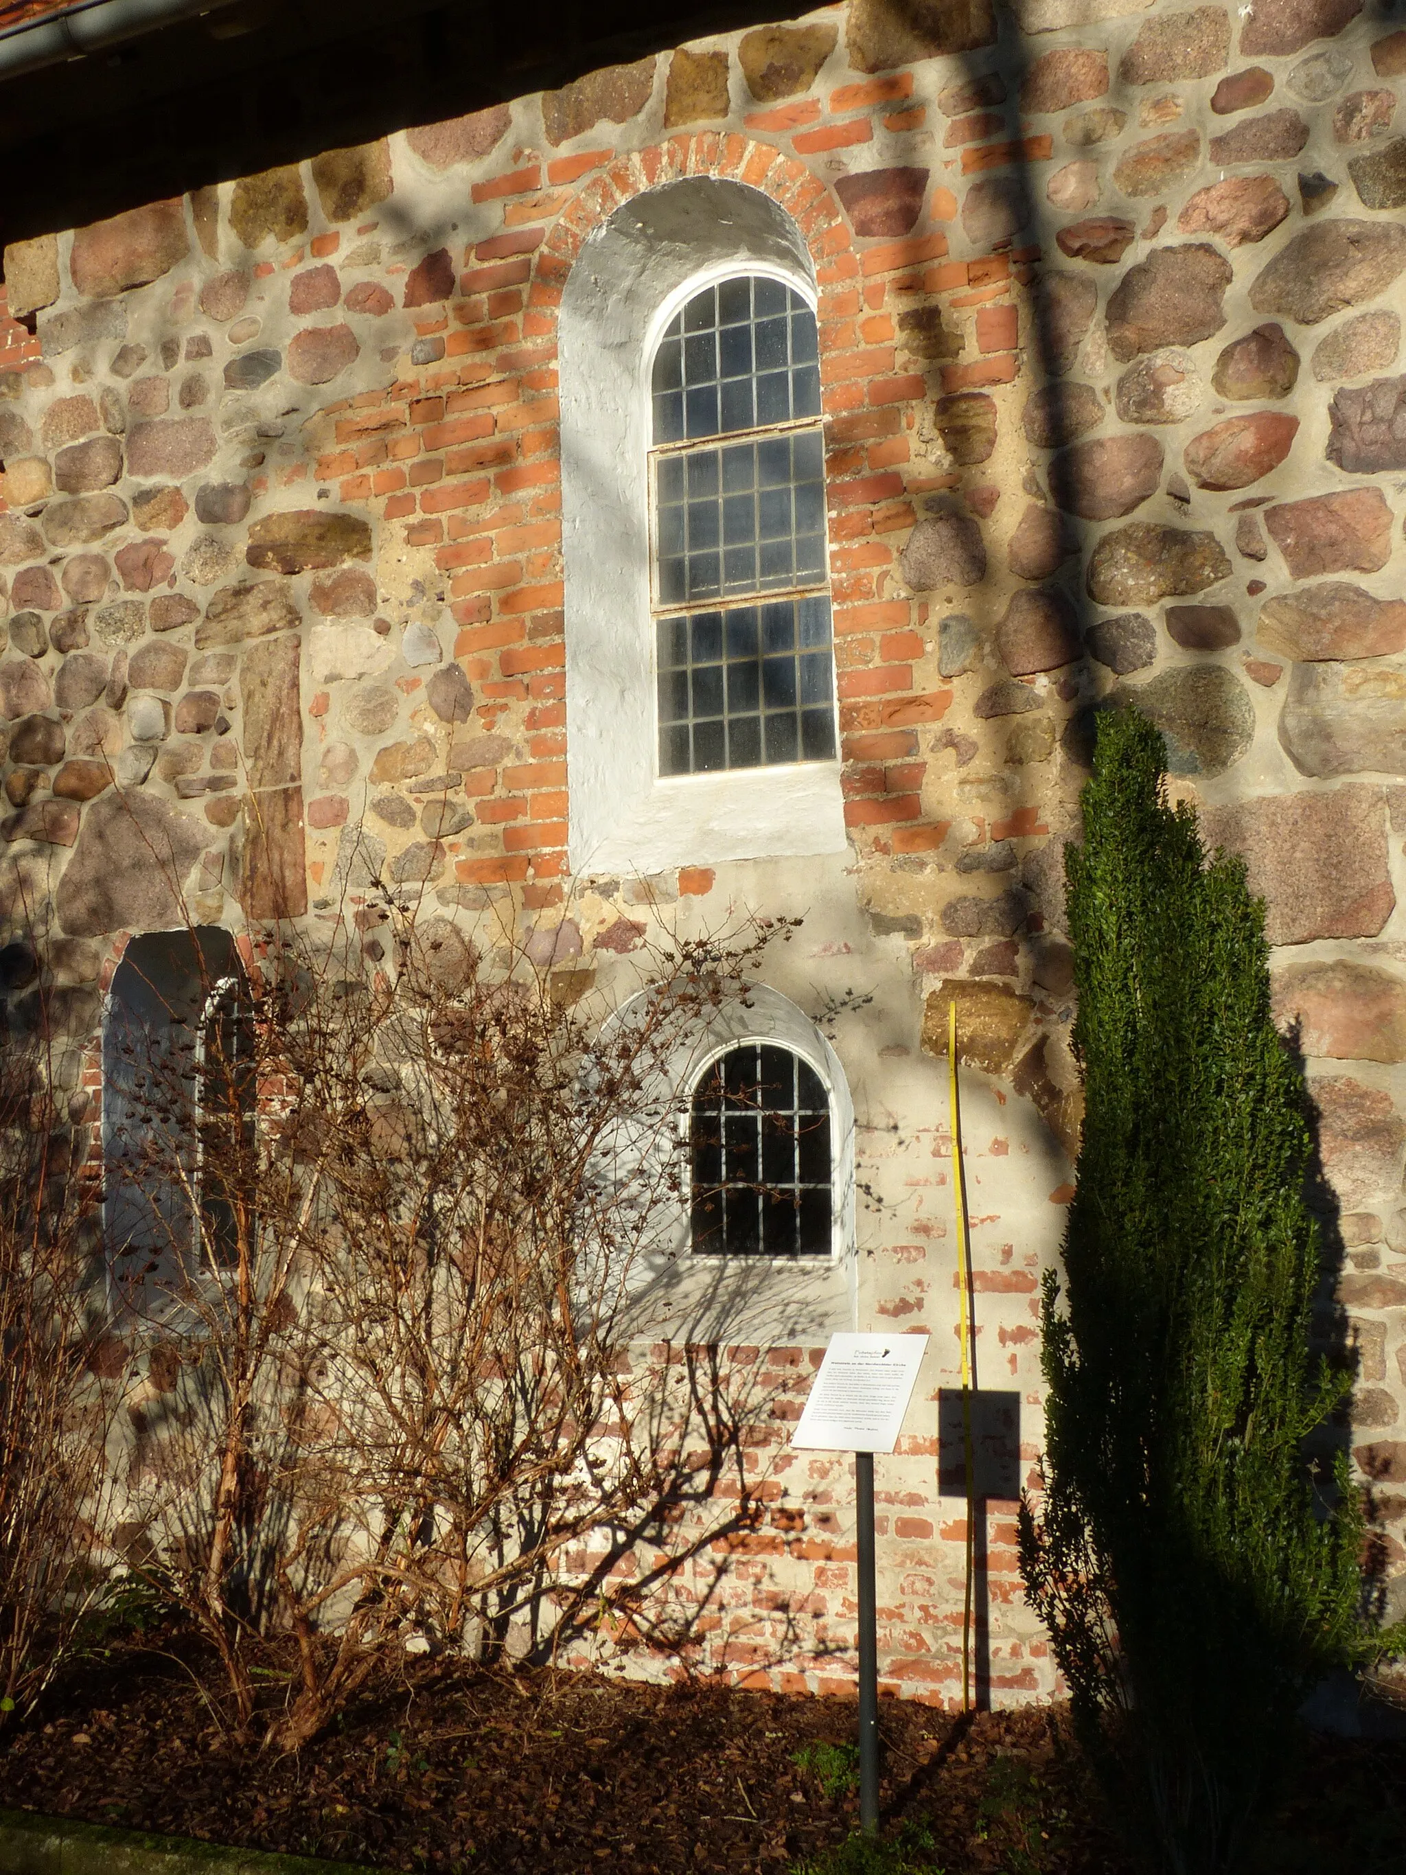
[[[827,1794],[815,1768],[814,1748],[853,1740],[840,1701],[416,1661],[276,1757],[229,1742],[201,1680],[214,1693],[176,1637],[114,1648],[0,1740],[0,1806],[446,1875],[782,1875],[857,1826],[853,1789]],[[1125,1875],[1061,1712],[885,1702],[881,1723],[885,1828],[926,1828],[924,1864]],[[1406,1744],[1307,1749],[1264,1869],[1400,1875]]]

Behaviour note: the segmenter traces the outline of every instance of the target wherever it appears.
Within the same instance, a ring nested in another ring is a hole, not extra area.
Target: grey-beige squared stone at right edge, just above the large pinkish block
[[[1299,774],[1406,774],[1406,668],[1295,664],[1279,741]]]

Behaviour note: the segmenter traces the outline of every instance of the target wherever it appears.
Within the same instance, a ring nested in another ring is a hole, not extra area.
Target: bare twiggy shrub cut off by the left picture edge
[[[54,1074],[32,941],[0,952],[0,1723],[34,1710],[109,1592],[112,1363],[86,1129]],[[79,1101],[81,1104],[81,1101]]]

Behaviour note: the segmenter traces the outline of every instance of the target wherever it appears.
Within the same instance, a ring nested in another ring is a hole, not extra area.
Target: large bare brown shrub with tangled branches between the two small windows
[[[379,966],[283,934],[231,998],[202,962],[189,1041],[127,1091],[124,1176],[169,1238],[126,1258],[127,1305],[178,1374],[131,1466],[142,1568],[217,1648],[238,1727],[255,1637],[296,1635],[283,1746],[407,1642],[542,1658],[752,1502],[759,1402],[630,1341],[681,1224],[671,1067],[769,932],[662,947],[611,1011],[521,945],[386,915]]]

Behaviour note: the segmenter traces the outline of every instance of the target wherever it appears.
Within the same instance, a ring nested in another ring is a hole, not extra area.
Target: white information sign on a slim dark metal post
[[[799,1451],[855,1453],[859,1552],[859,1824],[879,1828],[879,1642],[874,1453],[892,1451],[928,1348],[922,1335],[832,1335],[791,1436]]]

